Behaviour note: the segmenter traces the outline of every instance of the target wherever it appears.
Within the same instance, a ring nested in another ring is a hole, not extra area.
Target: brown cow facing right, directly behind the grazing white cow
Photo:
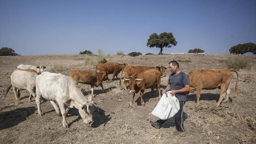
[[[92,90],[92,96],[94,86],[100,86],[104,93],[104,88],[102,85],[102,81],[109,80],[107,72],[95,72],[93,70],[70,70],[68,72],[68,76],[71,77],[77,84],[90,84]]]

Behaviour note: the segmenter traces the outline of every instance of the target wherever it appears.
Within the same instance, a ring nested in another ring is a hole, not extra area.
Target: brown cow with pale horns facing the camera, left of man
[[[150,69],[142,73],[135,74],[133,77],[129,79],[124,79],[125,81],[128,81],[129,83],[129,90],[132,94],[131,102],[130,104],[133,104],[135,93],[138,93],[140,90],[140,97],[141,97],[141,105],[145,106],[145,102],[143,101],[143,93],[145,89],[151,88],[152,95],[153,92],[153,86],[157,84],[157,90],[159,93],[159,99],[161,98],[160,93],[160,82],[161,82],[161,74],[156,69]]]

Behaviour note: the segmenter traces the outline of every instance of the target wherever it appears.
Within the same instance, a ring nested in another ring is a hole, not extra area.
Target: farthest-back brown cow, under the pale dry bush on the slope
[[[121,72],[123,67],[125,67],[127,63],[101,63],[96,65],[95,71],[97,72],[107,72],[108,74],[113,74],[113,77],[110,79],[111,82],[114,77],[117,78],[117,75]]]

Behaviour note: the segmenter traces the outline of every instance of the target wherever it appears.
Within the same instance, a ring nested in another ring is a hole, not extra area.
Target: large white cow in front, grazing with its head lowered
[[[51,72],[42,72],[36,80],[36,98],[35,102],[38,107],[38,114],[43,116],[40,102],[42,97],[49,100],[54,106],[58,115],[60,111],[56,105],[58,103],[61,115],[63,117],[62,126],[68,128],[66,117],[70,108],[77,108],[83,121],[87,124],[93,123],[94,105],[98,105],[92,101],[92,97],[84,97],[77,87],[75,81],[63,74]]]

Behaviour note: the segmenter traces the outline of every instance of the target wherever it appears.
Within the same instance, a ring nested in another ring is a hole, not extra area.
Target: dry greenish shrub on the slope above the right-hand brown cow
[[[230,58],[226,62],[228,69],[234,69],[234,70],[240,70],[240,69],[246,69],[250,70],[251,66],[249,62],[246,59],[243,58]]]

